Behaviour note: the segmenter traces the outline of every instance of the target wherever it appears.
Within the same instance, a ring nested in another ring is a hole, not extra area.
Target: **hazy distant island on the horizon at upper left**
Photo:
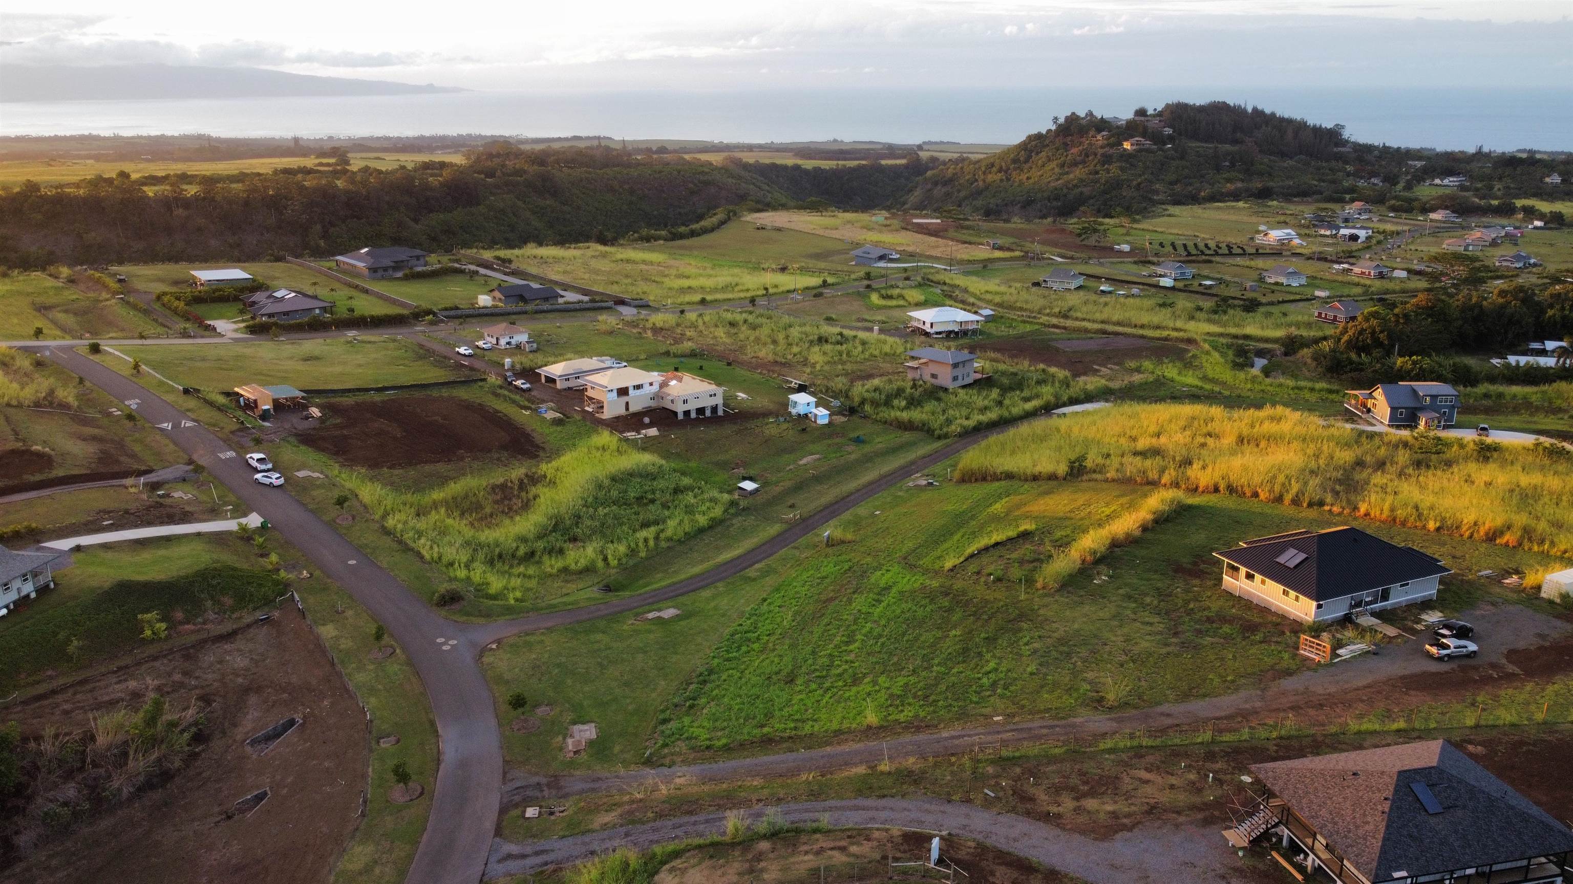
[[[466,91],[431,83],[313,77],[266,68],[195,64],[8,64],[0,102],[379,96]]]

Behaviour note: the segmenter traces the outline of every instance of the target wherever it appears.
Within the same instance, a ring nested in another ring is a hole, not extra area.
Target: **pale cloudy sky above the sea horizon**
[[[0,42],[0,71],[242,64],[522,91],[1513,88],[1573,82],[1573,0],[6,0]]]

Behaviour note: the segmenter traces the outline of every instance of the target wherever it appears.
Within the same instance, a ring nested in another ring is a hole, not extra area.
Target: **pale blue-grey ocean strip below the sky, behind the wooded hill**
[[[374,98],[0,104],[0,135],[612,135],[717,142],[1015,143],[1073,110],[1255,104],[1413,148],[1573,149],[1573,87],[467,91]]]

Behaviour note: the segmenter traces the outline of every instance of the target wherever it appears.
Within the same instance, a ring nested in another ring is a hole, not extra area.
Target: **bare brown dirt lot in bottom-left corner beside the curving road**
[[[223,639],[91,678],[5,709],[25,735],[80,730],[88,716],[142,705],[208,705],[204,742],[162,786],[55,838],[6,870],[8,881],[327,881],[357,824],[370,741],[365,716],[293,606]],[[304,724],[261,755],[244,741],[280,719]],[[261,788],[250,815],[223,820]]]

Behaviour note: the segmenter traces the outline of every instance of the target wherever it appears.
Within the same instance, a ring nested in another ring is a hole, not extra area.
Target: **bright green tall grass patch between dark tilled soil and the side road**
[[[708,529],[731,506],[731,497],[610,433],[544,464],[431,491],[351,470],[337,477],[428,562],[507,601],[533,601],[535,574],[617,568]]]

